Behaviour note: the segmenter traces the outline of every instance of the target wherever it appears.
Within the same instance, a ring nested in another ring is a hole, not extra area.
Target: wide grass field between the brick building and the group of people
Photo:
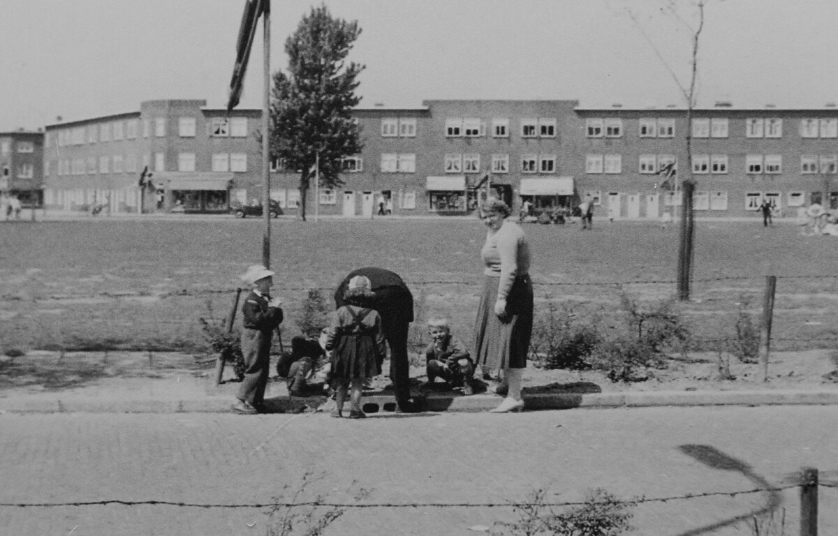
[[[546,298],[617,328],[621,291],[639,300],[675,292],[678,228],[597,221],[526,224],[534,253],[536,313]],[[257,220],[97,219],[0,225],[0,353],[9,348],[204,348],[199,317],[230,310],[246,265],[261,261]],[[471,338],[481,285],[477,220],[281,220],[272,228],[275,293],[284,298],[283,340],[296,334],[309,288],[326,296],[354,268],[401,274],[421,311],[447,316]],[[762,304],[764,277],[779,277],[773,348],[834,346],[838,332],[835,239],[804,237],[793,224],[699,222],[692,296],[681,304],[697,338],[734,338],[737,301]],[[644,281],[644,282],[638,282]],[[651,282],[650,282],[651,281]],[[422,296],[422,299],[418,298]],[[422,343],[422,326],[412,330]],[[717,345],[716,345],[717,346]],[[715,348],[715,347],[714,347]]]

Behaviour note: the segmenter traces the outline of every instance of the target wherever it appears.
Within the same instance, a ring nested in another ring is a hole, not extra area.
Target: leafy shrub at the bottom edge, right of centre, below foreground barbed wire
[[[546,492],[538,490],[526,504],[515,507],[519,521],[498,523],[511,536],[618,536],[633,529],[631,509],[636,501],[618,501],[603,488],[589,492],[585,502],[564,513],[555,513],[546,504]]]

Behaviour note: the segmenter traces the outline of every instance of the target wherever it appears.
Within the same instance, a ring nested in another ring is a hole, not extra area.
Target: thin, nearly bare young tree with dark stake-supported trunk
[[[654,43],[654,40],[649,36],[649,32],[644,28],[644,23],[641,20],[639,13],[634,8],[626,7],[625,13],[629,16],[634,27],[638,28],[644,39],[649,43],[649,46],[654,50],[660,62],[669,71],[672,79],[675,80],[675,85],[684,96],[686,101],[686,169],[683,176],[685,177],[682,185],[681,204],[683,210],[681,212],[681,227],[680,227],[680,244],[678,247],[678,298],[681,301],[690,299],[690,284],[692,276],[692,260],[693,260],[693,241],[695,239],[695,219],[692,211],[692,196],[696,189],[696,180],[692,174],[692,112],[696,106],[696,82],[698,79],[698,50],[699,39],[701,38],[701,30],[704,29],[704,8],[710,0],[664,0],[663,6],[658,9],[657,13],[669,17],[678,24],[679,28],[686,30],[690,35],[691,42],[691,56],[690,56],[690,74],[687,82],[683,82],[681,78],[675,73],[675,70],[670,66],[670,63],[664,58],[660,52],[660,48]]]

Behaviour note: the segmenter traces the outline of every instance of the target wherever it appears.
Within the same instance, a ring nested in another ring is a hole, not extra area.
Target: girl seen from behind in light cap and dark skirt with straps
[[[370,307],[373,296],[369,279],[353,277],[344,294],[345,305],[332,317],[326,350],[334,350],[331,373],[337,405],[334,417],[344,416],[347,389],[351,404],[349,419],[366,417],[361,410],[364,381],[378,374],[378,357],[386,351],[381,317]]]

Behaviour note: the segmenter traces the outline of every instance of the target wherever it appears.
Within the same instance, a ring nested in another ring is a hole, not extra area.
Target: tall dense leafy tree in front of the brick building
[[[351,111],[364,65],[345,63],[360,33],[356,21],[333,18],[323,4],[312,8],[285,42],[287,73],[273,76],[271,156],[300,173],[303,220],[317,164],[321,186],[335,188],[343,184],[342,158],[363,148]]]

